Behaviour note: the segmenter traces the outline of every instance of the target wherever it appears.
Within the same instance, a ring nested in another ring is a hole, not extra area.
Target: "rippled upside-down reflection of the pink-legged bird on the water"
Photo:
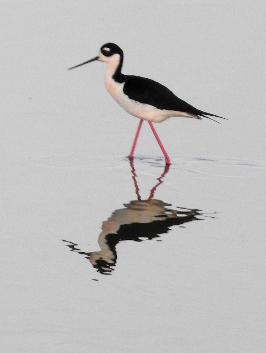
[[[161,234],[170,231],[169,227],[182,225],[199,220],[200,210],[173,208],[171,204],[154,199],[157,187],[162,184],[163,177],[169,171],[166,164],[163,173],[157,178],[156,185],[151,189],[150,196],[141,200],[133,160],[130,161],[131,172],[135,185],[137,200],[124,204],[124,208],[115,210],[111,217],[102,224],[102,232],[98,238],[100,251],[83,252],[77,244],[63,240],[73,252],[86,255],[97,272],[111,274],[117,261],[116,245],[123,240],[143,241],[159,238]]]

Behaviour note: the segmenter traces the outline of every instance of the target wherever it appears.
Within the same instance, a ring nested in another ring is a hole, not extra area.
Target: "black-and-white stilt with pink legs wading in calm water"
[[[82,62],[82,64],[70,67],[68,70],[95,60],[107,62],[105,86],[108,92],[129,114],[137,116],[137,118],[140,119],[131,152],[129,154],[129,159],[133,158],[143,120],[148,120],[151,130],[163,152],[166,164],[170,164],[170,158],[168,157],[152,122],[161,122],[172,116],[194,119],[201,119],[201,117],[204,116],[211,120],[214,119],[206,115],[216,116],[216,118],[222,118],[222,116],[203,112],[202,110],[194,108],[175,96],[167,87],[154,80],[140,76],[122,74],[123,56],[123,50],[120,47],[114,43],[106,43],[100,48],[98,56]]]

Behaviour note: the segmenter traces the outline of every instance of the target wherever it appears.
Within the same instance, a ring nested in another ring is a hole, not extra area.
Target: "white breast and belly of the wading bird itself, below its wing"
[[[172,116],[198,119],[198,116],[194,114],[177,112],[175,110],[158,109],[150,104],[134,101],[124,94],[124,83],[117,83],[110,77],[105,77],[105,86],[114,100],[124,108],[126,112],[139,119],[150,120],[152,122],[161,122]]]

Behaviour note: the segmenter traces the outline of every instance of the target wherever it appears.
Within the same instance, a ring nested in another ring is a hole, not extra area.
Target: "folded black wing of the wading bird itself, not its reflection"
[[[123,92],[130,99],[140,103],[150,104],[158,109],[175,110],[178,112],[185,112],[200,116],[206,114],[222,118],[221,116],[209,114],[191,106],[189,103],[174,95],[173,92],[166,86],[163,86],[162,84],[149,78],[140,76],[125,76]]]

